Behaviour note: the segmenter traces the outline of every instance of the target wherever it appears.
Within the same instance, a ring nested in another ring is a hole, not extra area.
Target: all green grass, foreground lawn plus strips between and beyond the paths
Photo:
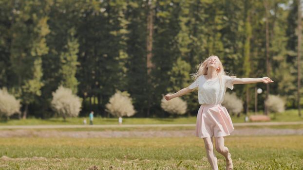
[[[270,115],[273,118],[273,115]],[[0,125],[82,124],[84,118],[11,119]],[[232,117],[244,122],[244,116]],[[125,118],[124,124],[192,124],[195,117]],[[272,121],[303,121],[296,110],[276,114]],[[95,118],[94,124],[117,124],[116,118]],[[194,126],[27,129],[56,131],[170,131],[194,130]],[[297,125],[236,126],[243,128],[303,129]],[[0,132],[4,130],[0,130]],[[13,129],[5,130],[15,131]],[[227,136],[234,170],[303,170],[303,136]],[[219,170],[225,160],[216,152]],[[203,139],[197,137],[38,137],[0,138],[0,170],[211,170]]]

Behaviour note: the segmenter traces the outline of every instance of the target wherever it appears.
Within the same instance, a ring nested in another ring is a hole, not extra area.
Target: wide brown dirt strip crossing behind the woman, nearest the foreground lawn
[[[108,137],[190,137],[194,130],[179,131],[56,131],[56,130],[1,130],[0,137],[75,137],[75,138],[108,138]],[[280,136],[303,135],[303,129],[269,129],[246,128],[235,129],[231,136]]]

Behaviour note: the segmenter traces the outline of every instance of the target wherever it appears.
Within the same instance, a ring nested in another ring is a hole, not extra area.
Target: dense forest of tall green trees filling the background
[[[302,101],[299,5],[299,0],[1,0],[0,87],[21,100],[24,118],[54,116],[50,103],[60,85],[82,98],[80,116],[91,110],[109,116],[105,105],[120,90],[132,97],[135,116],[166,117],[162,96],[189,85],[190,73],[214,54],[231,75],[275,81],[236,86],[245,112],[254,108],[255,87],[265,91],[259,101],[279,94],[287,108],[296,108]],[[197,94],[183,99],[188,115],[195,115]]]

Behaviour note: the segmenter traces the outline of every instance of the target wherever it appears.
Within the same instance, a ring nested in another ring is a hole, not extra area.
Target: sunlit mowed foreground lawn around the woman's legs
[[[303,136],[228,136],[234,170],[303,170]],[[209,170],[203,139],[0,139],[0,170]],[[223,156],[216,153],[219,170]],[[94,167],[95,166],[95,167]]]

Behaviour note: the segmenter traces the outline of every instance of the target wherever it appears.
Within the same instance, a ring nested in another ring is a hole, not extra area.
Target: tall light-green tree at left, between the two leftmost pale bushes
[[[26,1],[15,4],[15,22],[12,25],[11,44],[12,69],[18,76],[15,91],[25,105],[23,118],[26,118],[28,105],[41,95],[41,57],[48,53],[45,36],[50,33],[47,24],[50,1]],[[36,10],[42,8],[45,11]]]

